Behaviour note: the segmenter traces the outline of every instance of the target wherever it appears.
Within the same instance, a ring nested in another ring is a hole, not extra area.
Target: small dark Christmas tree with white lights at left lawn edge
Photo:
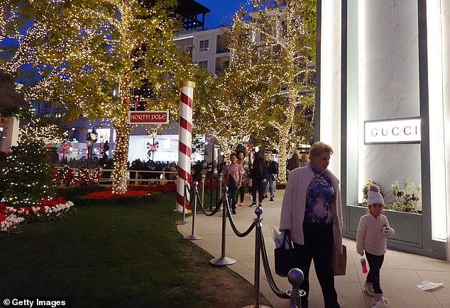
[[[53,198],[52,169],[42,140],[23,135],[3,169],[6,178],[4,201],[11,205],[31,206],[43,198]]]

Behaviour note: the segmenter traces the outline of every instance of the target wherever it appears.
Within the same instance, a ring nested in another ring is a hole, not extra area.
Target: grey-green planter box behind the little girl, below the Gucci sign
[[[346,217],[344,235],[356,239],[359,218],[368,213],[366,207],[356,205],[346,206]],[[422,215],[384,210],[383,214],[388,217],[389,224],[395,229],[395,235],[388,238],[389,243],[422,248]]]

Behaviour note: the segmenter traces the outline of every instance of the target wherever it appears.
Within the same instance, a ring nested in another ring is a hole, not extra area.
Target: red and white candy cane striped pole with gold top
[[[192,97],[195,83],[182,81],[180,89],[180,122],[178,128],[178,176],[176,212],[182,212],[183,207],[189,209],[189,191],[185,193],[185,177],[187,185],[191,183],[191,147],[192,147]],[[186,200],[186,201],[185,201]]]

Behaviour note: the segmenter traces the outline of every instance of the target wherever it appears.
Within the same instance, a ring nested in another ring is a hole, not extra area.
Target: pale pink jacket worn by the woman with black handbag
[[[342,205],[341,190],[339,189],[339,180],[331,171],[326,169],[326,175],[329,176],[334,187],[333,202],[333,235],[334,250],[336,253],[342,253]],[[289,181],[287,181],[285,195],[282,200],[280,230],[289,229],[292,241],[303,245],[303,219],[306,205],[306,194],[314,178],[314,171],[311,169],[311,163],[307,166],[296,168],[290,172]]]

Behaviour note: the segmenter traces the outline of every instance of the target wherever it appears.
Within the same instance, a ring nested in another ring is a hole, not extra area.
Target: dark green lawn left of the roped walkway
[[[0,239],[0,295],[64,296],[72,307],[208,307],[183,256],[175,194],[153,204],[77,207]]]

